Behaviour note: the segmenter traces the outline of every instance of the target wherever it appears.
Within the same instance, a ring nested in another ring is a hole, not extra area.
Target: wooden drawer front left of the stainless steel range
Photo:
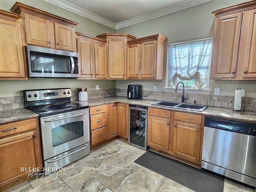
[[[0,137],[36,128],[36,118],[0,125]]]

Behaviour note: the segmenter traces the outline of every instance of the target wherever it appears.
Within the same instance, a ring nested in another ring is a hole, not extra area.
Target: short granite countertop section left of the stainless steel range
[[[38,114],[25,108],[0,111],[0,124],[37,117]]]

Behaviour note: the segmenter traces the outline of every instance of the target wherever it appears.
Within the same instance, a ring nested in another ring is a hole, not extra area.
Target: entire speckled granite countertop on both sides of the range
[[[186,113],[191,113],[191,114],[201,114],[201,115],[204,114],[205,116],[209,116],[209,117],[225,118],[225,119],[231,119],[231,120],[256,123],[256,112],[253,112],[253,111],[236,112],[236,111],[232,111],[231,109],[228,109],[228,108],[220,108],[220,107],[210,107],[209,106],[203,112],[195,112],[195,111],[189,111],[189,110],[181,110],[181,109],[174,109],[174,108],[167,108],[167,107],[151,105],[152,103],[157,102],[156,100],[148,100],[148,99],[130,100],[126,97],[121,97],[121,96],[112,96],[112,97],[89,99],[88,101],[73,101],[73,102],[80,103],[80,104],[86,104],[89,106],[96,106],[96,105],[102,105],[102,104],[108,104],[108,103],[114,103],[114,102],[123,102],[123,103],[127,103],[127,104],[147,106],[147,107],[152,107],[152,108],[175,110],[175,111],[186,112]],[[24,109],[24,108],[1,111],[0,112],[0,124],[23,120],[23,119],[27,119],[27,118],[33,118],[36,116],[38,116],[38,114],[36,114],[30,110]]]

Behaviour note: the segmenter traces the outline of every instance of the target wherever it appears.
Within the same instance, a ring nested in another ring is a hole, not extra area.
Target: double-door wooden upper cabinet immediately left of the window
[[[127,42],[128,79],[163,79],[166,39],[165,36],[156,34]]]

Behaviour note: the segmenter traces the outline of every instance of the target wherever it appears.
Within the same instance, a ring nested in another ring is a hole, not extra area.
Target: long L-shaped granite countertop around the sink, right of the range
[[[148,100],[148,99],[130,100],[126,97],[121,97],[121,96],[96,98],[96,99],[89,99],[88,101],[74,101],[74,102],[80,103],[80,104],[86,104],[89,106],[96,106],[96,105],[108,104],[113,102],[123,102],[123,103],[147,106],[152,108],[175,110],[175,111],[186,112],[191,114],[201,114],[201,115],[204,114],[205,116],[209,116],[209,117],[225,118],[225,119],[238,120],[238,121],[241,120],[241,121],[256,123],[256,112],[254,111],[240,112],[240,111],[232,111],[232,109],[221,108],[221,107],[209,106],[203,112],[196,112],[196,111],[181,110],[181,109],[151,105],[152,103],[157,102],[156,100]]]

